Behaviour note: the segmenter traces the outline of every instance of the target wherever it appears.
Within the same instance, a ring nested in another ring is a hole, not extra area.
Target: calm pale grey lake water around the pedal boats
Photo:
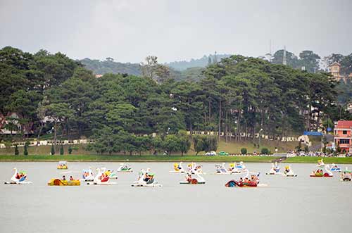
[[[57,163],[0,163],[1,182],[12,168],[26,170],[30,185],[0,184],[0,232],[351,232],[352,182],[312,178],[314,164],[292,164],[298,177],[265,175],[270,163],[246,163],[268,187],[226,188],[239,175],[210,175],[206,185],[182,185],[184,175],[170,173],[173,163],[129,163],[134,172],[120,174],[117,185],[48,187],[61,177]],[[120,163],[69,163],[82,170]],[[184,163],[184,165],[187,165]],[[350,165],[351,166],[351,165]],[[283,168],[284,164],[280,164]],[[345,168],[346,165],[341,165]],[[130,187],[141,168],[151,168],[163,187]],[[352,167],[351,167],[352,168]],[[67,176],[67,175],[66,175]]]

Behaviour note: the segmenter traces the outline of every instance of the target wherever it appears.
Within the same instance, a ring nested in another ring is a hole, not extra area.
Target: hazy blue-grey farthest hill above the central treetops
[[[216,60],[220,61],[221,58],[228,58],[230,57],[230,54],[216,54]],[[213,63],[215,60],[215,56],[212,54],[209,54],[208,56],[204,55],[202,58],[199,59],[193,59],[191,58],[191,61],[172,61],[170,63],[165,63],[165,65],[168,65],[171,68],[174,68],[175,70],[186,70],[187,68],[195,68],[195,67],[206,67],[209,63],[209,58],[211,62]]]

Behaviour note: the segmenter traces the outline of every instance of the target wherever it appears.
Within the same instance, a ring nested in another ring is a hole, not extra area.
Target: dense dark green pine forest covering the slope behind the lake
[[[23,135],[27,128],[38,136],[50,131],[55,140],[90,137],[96,140],[91,149],[99,153],[184,153],[190,146],[185,130],[232,133],[238,141],[240,133],[247,140],[258,132],[283,137],[318,130],[327,118],[351,119],[327,73],[230,56],[208,65],[194,82],[173,79],[156,57],[140,65],[139,76],[96,78],[63,53],[31,54],[7,46],[0,50],[0,113],[19,113]],[[7,120],[4,127],[14,127],[13,119]]]

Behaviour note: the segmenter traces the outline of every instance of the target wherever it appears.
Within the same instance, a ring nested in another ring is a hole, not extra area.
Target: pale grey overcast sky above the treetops
[[[349,54],[352,1],[0,0],[0,47],[31,53],[169,62],[214,51],[263,56],[270,39],[272,51]]]

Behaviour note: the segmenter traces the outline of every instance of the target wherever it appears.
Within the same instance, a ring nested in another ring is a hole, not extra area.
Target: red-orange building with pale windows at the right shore
[[[334,127],[335,147],[339,145],[342,153],[352,153],[352,120],[339,120]]]

